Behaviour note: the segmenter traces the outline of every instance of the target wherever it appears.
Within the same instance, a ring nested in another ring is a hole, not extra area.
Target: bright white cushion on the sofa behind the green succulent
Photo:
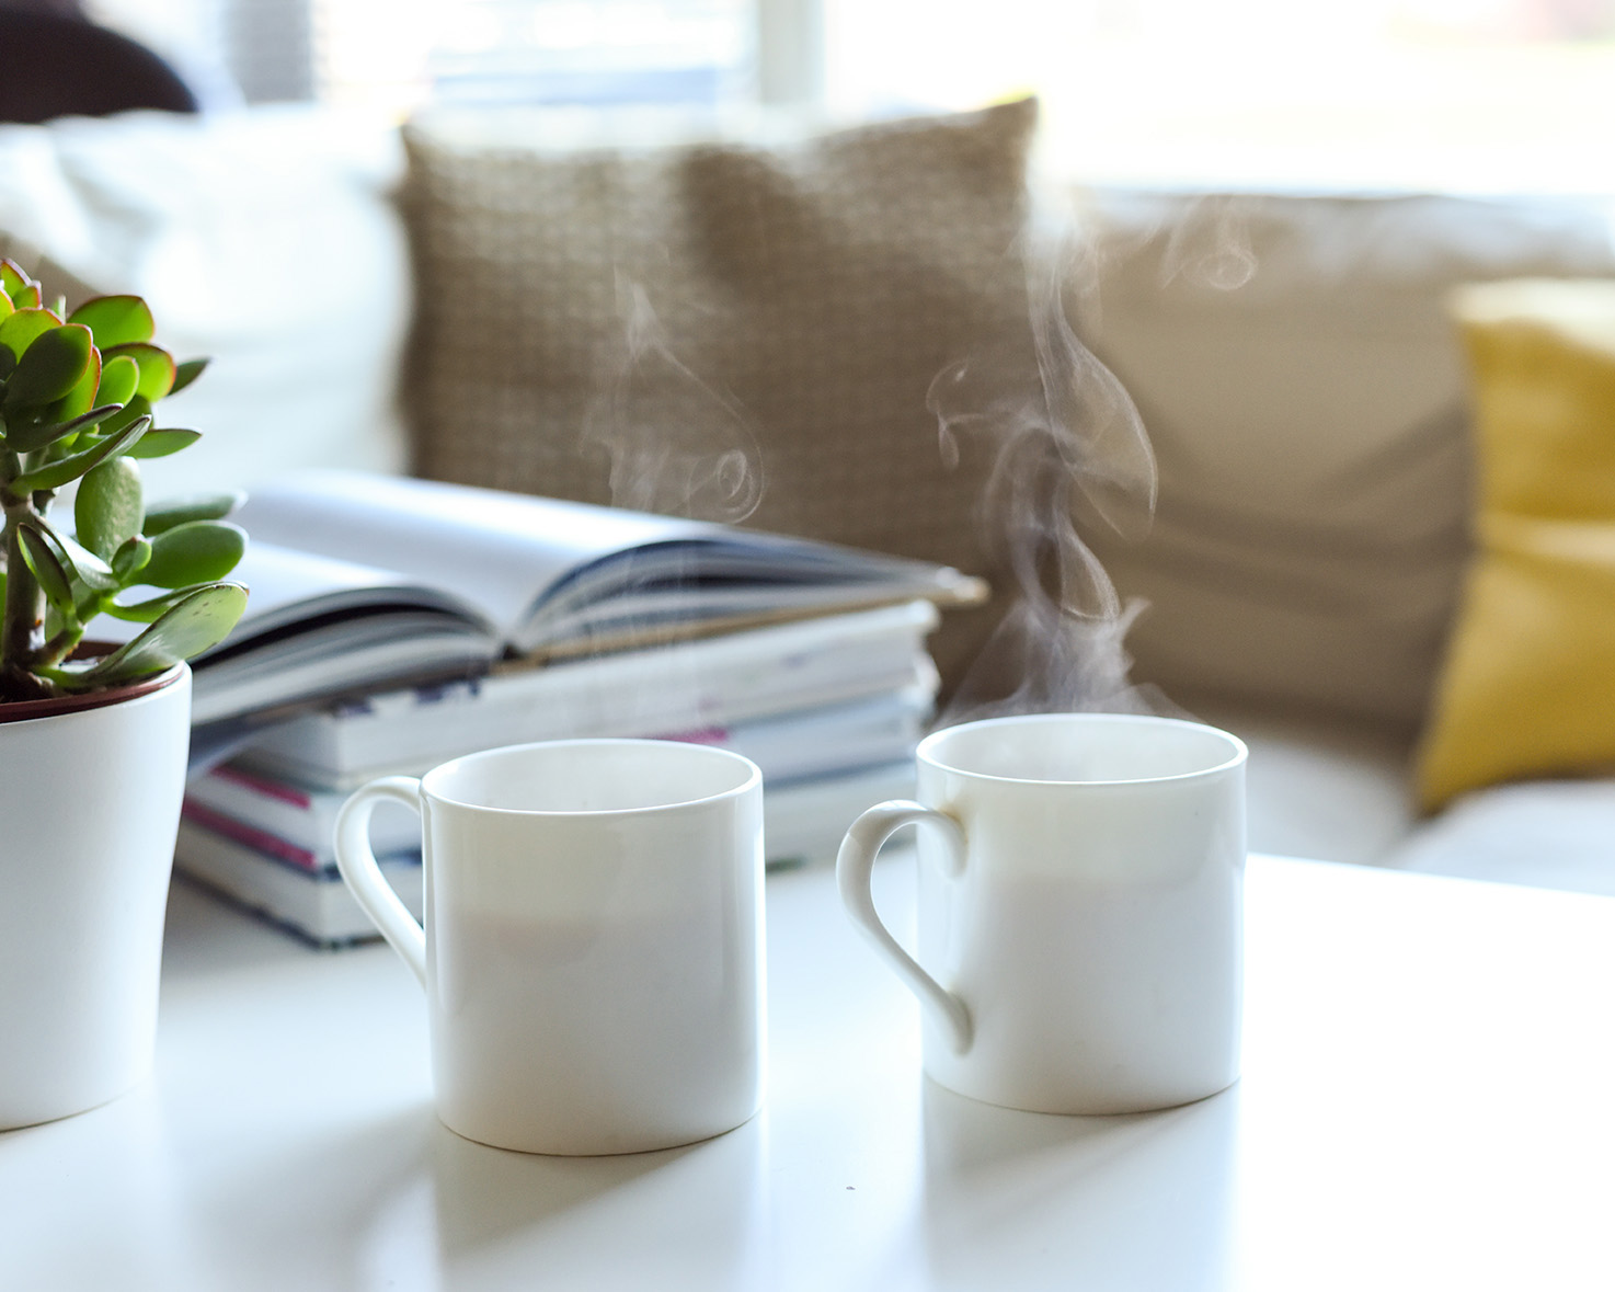
[[[26,257],[47,292],[53,266],[137,292],[158,344],[213,359],[158,409],[203,439],[142,464],[149,497],[300,465],[402,467],[401,173],[388,123],[317,108],[0,126],[0,252]]]

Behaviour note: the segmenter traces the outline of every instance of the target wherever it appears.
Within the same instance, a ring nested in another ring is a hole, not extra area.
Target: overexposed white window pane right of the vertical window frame
[[[1037,92],[1103,181],[1615,191],[1612,0],[825,0],[843,111]]]

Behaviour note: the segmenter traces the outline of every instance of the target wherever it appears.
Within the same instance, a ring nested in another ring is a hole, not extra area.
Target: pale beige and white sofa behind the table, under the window
[[[215,368],[153,493],[312,464],[401,470],[412,300],[386,123],[312,110],[0,128],[0,250],[149,297]],[[221,178],[223,176],[223,178]],[[1615,893],[1615,785],[1521,783],[1420,819],[1408,759],[1470,557],[1449,291],[1612,275],[1597,203],[1080,191],[1079,329],[1143,413],[1135,677],[1245,736],[1255,849]]]

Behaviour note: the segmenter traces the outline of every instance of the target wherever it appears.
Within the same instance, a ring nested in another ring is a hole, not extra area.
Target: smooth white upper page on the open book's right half
[[[562,577],[617,551],[715,526],[581,502],[362,472],[300,472],[258,486],[234,517],[268,541],[452,588],[520,635]],[[257,589],[254,589],[257,593]]]

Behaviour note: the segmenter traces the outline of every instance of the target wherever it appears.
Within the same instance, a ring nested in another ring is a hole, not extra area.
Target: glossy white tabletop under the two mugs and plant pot
[[[1615,1287],[1609,898],[1253,858],[1244,1080],[1092,1119],[924,1082],[828,870],[769,925],[756,1121],[531,1158],[438,1124],[389,950],[176,887],[155,1077],[0,1135],[0,1289]]]

